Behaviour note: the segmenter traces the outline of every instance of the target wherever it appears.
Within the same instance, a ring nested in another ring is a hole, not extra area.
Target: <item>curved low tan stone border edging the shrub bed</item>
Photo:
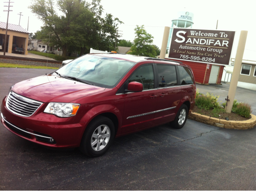
[[[256,116],[253,114],[251,114],[251,116],[252,118],[245,121],[232,121],[232,120],[227,121],[227,120],[209,117],[206,115],[192,112],[190,115],[188,115],[188,118],[201,123],[208,124],[208,125],[213,125],[216,127],[222,127],[226,129],[245,130],[245,129],[254,128],[254,126],[256,125]]]

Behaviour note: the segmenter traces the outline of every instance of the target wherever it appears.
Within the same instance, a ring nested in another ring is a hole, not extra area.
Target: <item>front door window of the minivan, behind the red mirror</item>
[[[137,69],[129,79],[130,82],[139,82],[143,90],[154,89],[154,72],[152,65],[144,65]]]

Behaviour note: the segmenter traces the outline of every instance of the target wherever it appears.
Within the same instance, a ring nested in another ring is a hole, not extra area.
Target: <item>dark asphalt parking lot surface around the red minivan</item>
[[[53,71],[0,68],[1,101],[12,84]],[[225,87],[197,85],[224,98]],[[88,158],[42,148],[0,124],[0,190],[255,190],[255,164],[256,128],[187,120],[180,130],[165,124],[116,138],[104,156]]]

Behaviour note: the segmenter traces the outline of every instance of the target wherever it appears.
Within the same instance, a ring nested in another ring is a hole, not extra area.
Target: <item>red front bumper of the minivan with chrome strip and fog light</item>
[[[75,122],[74,117],[60,118],[44,113],[42,104],[29,117],[16,115],[6,107],[6,97],[1,106],[1,122],[10,132],[37,144],[55,148],[80,146],[86,123]]]

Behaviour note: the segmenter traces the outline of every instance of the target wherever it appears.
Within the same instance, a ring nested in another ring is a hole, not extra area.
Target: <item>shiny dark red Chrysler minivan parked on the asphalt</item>
[[[88,54],[12,86],[1,122],[26,140],[96,157],[115,137],[168,122],[182,128],[195,95],[192,70],[181,62]]]

